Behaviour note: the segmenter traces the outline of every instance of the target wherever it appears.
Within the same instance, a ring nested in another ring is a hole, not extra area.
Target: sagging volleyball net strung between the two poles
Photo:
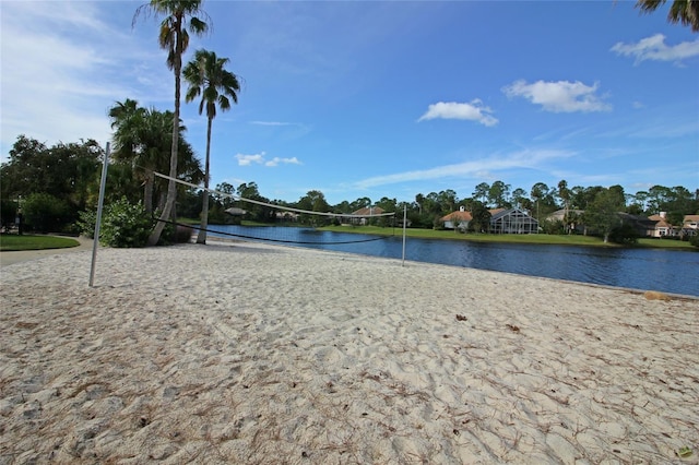
[[[223,224],[215,222],[214,224],[209,224],[206,228],[202,228],[201,225],[165,222],[177,226],[191,227],[196,230],[204,229],[209,239],[239,239],[299,246],[332,246],[384,240],[401,234],[400,228],[402,226],[399,224],[395,212],[383,212],[377,207],[362,208],[354,213],[313,212],[296,206],[246,199],[234,193],[222,192],[182,181],[181,179],[170,178],[161,172],[154,172],[154,175],[166,180],[173,180],[180,186],[208,191],[211,196],[223,201],[223,205],[226,206]],[[253,226],[242,223],[251,216],[256,218]],[[363,226],[375,227],[371,228],[371,233],[365,233],[363,231]]]

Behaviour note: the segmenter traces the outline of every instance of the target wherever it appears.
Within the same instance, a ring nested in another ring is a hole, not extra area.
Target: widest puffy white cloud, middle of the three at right
[[[599,86],[599,83],[589,86],[580,81],[536,81],[532,84],[516,81],[502,87],[502,92],[508,97],[524,97],[533,104],[541,105],[546,111],[608,111],[612,106],[595,95]]]

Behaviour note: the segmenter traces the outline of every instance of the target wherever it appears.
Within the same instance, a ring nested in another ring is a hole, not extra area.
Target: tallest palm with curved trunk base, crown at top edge
[[[165,220],[169,218],[177,199],[177,150],[179,136],[179,104],[180,104],[180,79],[182,71],[182,55],[189,46],[189,28],[196,35],[203,35],[209,29],[209,24],[200,20],[197,15],[206,13],[200,9],[201,0],[151,0],[150,3],[139,7],[133,15],[133,22],[139,14],[153,13],[165,15],[161,23],[158,43],[161,48],[167,50],[167,68],[175,73],[175,118],[173,119],[173,141],[170,148],[169,181],[167,184],[167,200],[161,214],[161,220],[155,225],[155,229],[149,237],[149,246],[155,246],[161,238]]]

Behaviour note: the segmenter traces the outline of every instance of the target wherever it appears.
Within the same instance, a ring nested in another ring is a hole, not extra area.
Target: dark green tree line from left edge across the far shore
[[[110,116],[118,122],[115,140],[127,135],[116,144],[109,176],[105,186],[105,203],[120,199],[143,205],[143,211],[156,214],[164,207],[167,196],[167,181],[156,178],[153,172],[162,172],[169,164],[169,127],[174,115],[169,111],[140,108],[133,100],[118,103]],[[127,122],[125,122],[127,121]],[[196,157],[185,136],[186,128],[179,126],[180,136],[179,179],[199,184],[204,178],[201,163]],[[2,194],[2,224],[15,222],[17,206],[22,207],[27,226],[38,231],[76,233],[75,223],[80,212],[94,210],[99,192],[102,163],[105,151],[94,140],[75,143],[58,143],[46,146],[42,142],[20,135],[9,154],[9,160],[0,167],[0,192]],[[230,207],[245,210],[245,219],[272,223],[281,207],[294,207],[310,212],[352,214],[365,207],[380,207],[384,212],[406,210],[408,224],[416,228],[440,226],[440,218],[461,207],[472,212],[478,223],[478,213],[493,208],[519,208],[528,212],[546,233],[567,233],[567,226],[580,223],[579,212],[585,212],[585,220],[595,222],[595,212],[628,213],[650,216],[666,212],[666,220],[680,226],[685,215],[699,214],[699,189],[694,191],[676,186],[653,186],[647,191],[626,193],[621,186],[568,187],[565,180],[556,186],[536,182],[529,190],[512,188],[503,181],[481,182],[471,195],[460,198],[454,190],[418,193],[413,201],[399,202],[383,196],[371,200],[362,196],[353,201],[342,201],[331,205],[319,190],[311,190],[297,201],[288,202],[268,199],[259,191],[256,182],[245,182],[234,187],[222,182],[212,195],[204,190],[179,186],[177,191],[177,216],[192,219],[203,217],[203,205],[212,224],[236,220],[225,213]],[[236,198],[256,201],[240,202]],[[262,205],[268,204],[268,205]],[[555,211],[566,212],[562,224],[546,218]],[[399,215],[400,216],[400,215]],[[483,218],[483,215],[481,215]],[[300,218],[304,222],[304,217]],[[487,218],[482,219],[485,223]]]

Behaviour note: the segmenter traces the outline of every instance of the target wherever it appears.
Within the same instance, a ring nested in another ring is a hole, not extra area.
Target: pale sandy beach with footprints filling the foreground
[[[699,463],[697,299],[242,242],[100,249],[88,287],[91,258],[1,270],[0,464]]]

